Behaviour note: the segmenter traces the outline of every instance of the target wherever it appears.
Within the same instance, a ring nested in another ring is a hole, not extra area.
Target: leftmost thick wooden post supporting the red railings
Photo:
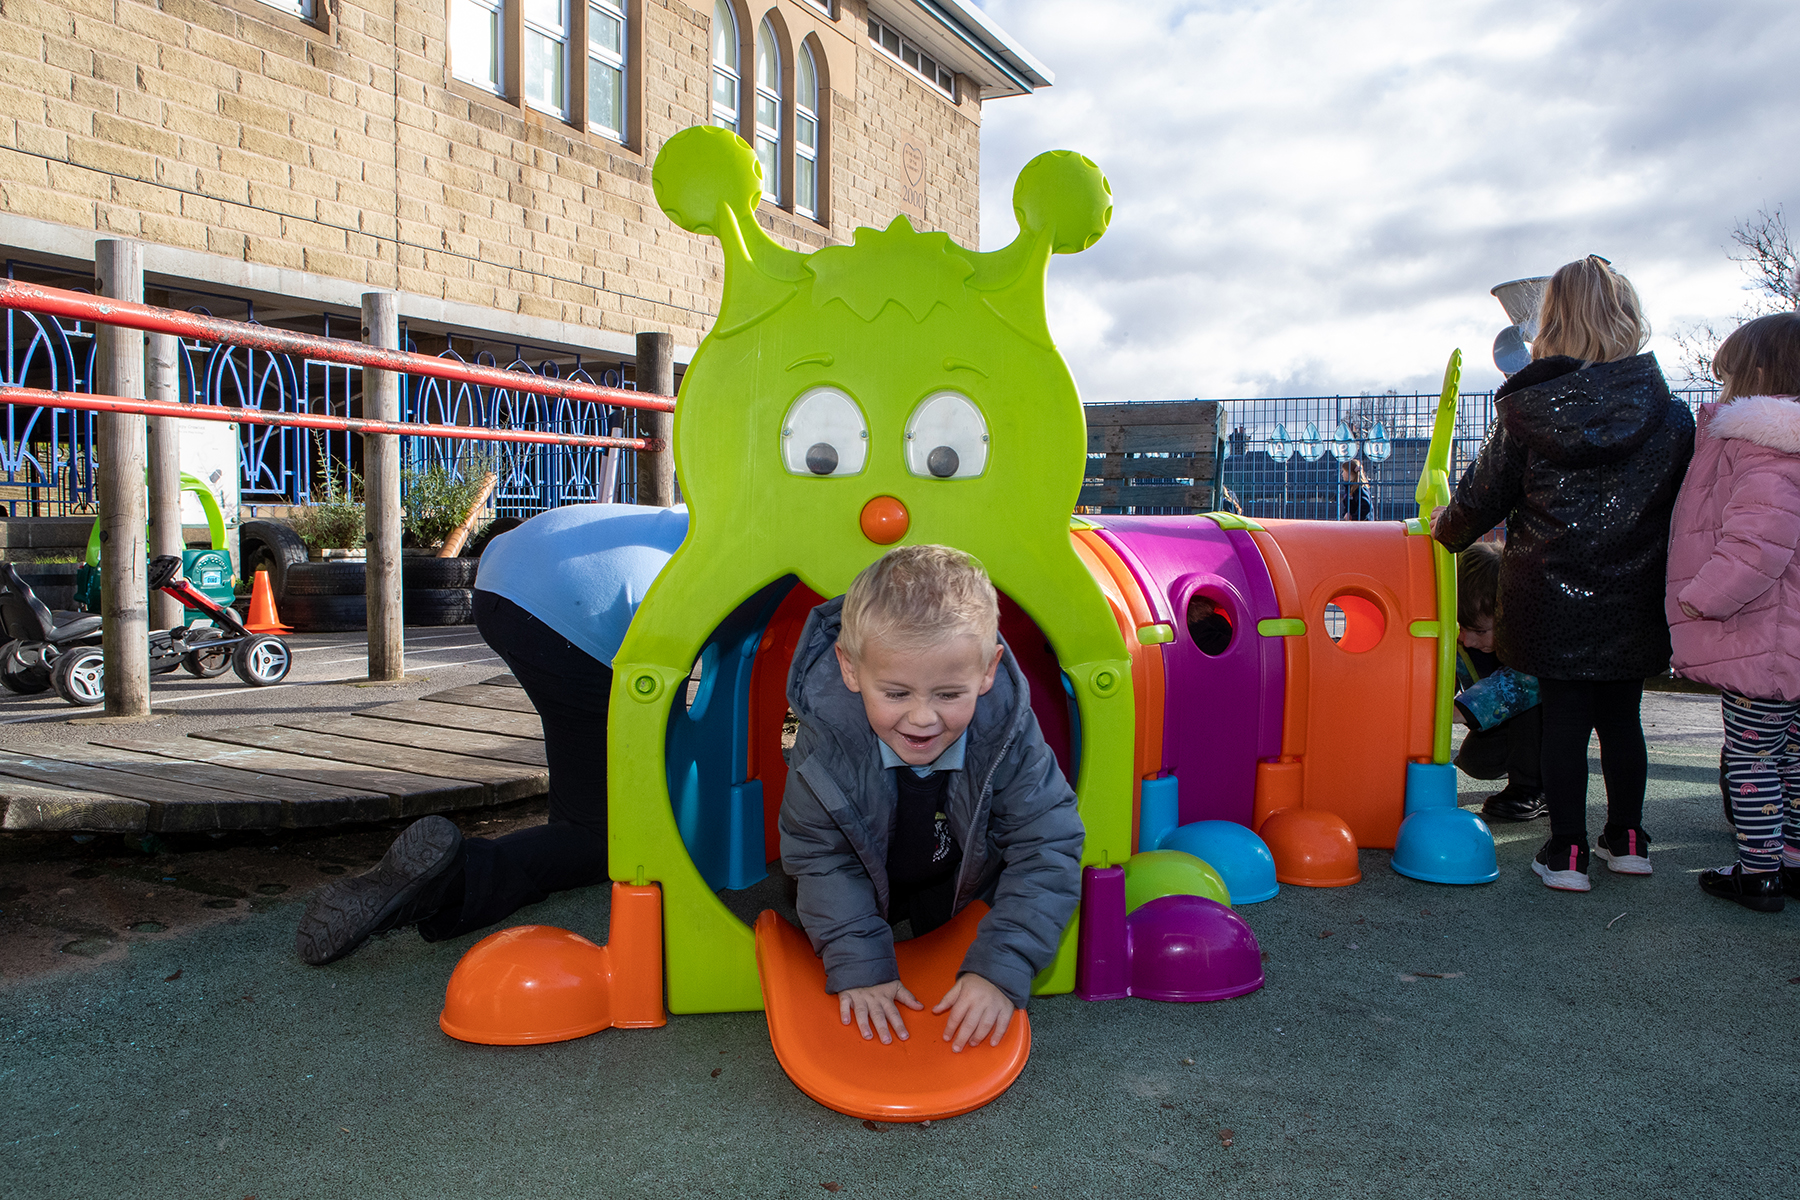
[[[101,295],[144,299],[144,246],[94,243]],[[144,335],[95,326],[94,390],[144,396]],[[144,417],[104,412],[95,419],[101,500],[101,651],[106,655],[106,716],[149,716],[149,606],[144,578]]]

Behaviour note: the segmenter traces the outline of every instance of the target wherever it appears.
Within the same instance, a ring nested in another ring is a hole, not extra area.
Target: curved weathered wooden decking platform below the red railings
[[[544,793],[544,729],[509,675],[353,714],[0,750],[0,828],[313,829]]]

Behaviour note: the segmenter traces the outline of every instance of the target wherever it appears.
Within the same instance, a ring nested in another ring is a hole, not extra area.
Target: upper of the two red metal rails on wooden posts
[[[617,387],[580,383],[576,380],[545,380],[536,374],[502,371],[500,367],[482,367],[477,363],[457,362],[454,358],[436,358],[434,354],[391,351],[378,345],[365,345],[362,342],[322,338],[313,333],[293,333],[290,329],[274,329],[270,326],[252,326],[241,320],[225,320],[223,317],[182,313],[173,308],[135,304],[131,300],[108,300],[106,297],[86,295],[83,291],[65,291],[61,288],[45,288],[41,284],[22,282],[18,279],[0,279],[0,308],[67,317],[70,320],[92,320],[101,326],[122,326],[126,329],[142,329],[146,333],[173,333],[196,342],[225,342],[229,345],[243,345],[247,349],[270,351],[274,354],[299,354],[304,358],[347,363],[353,367],[423,374],[437,380],[452,380],[455,383],[479,383],[481,387],[500,387],[515,392],[531,392],[535,396],[590,399],[601,405],[652,408],[657,412],[675,410],[675,399],[671,396],[628,392]],[[121,410],[113,408],[113,412]],[[182,416],[194,414],[189,410]],[[418,426],[401,426],[401,432],[412,434],[416,428]],[[464,434],[464,437],[468,437],[468,434]],[[648,443],[655,439],[643,441]]]

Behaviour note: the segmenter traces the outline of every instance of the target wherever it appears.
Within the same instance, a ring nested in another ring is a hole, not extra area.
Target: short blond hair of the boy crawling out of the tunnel
[[[988,572],[947,545],[902,545],[862,569],[844,596],[837,644],[862,658],[868,642],[907,649],[974,637],[983,657],[999,644],[1001,606]]]

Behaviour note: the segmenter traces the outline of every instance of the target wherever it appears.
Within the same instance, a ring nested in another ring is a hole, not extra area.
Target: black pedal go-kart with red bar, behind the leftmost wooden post
[[[149,560],[151,590],[173,596],[187,608],[203,612],[212,624],[194,622],[178,624],[173,630],[155,630],[149,635],[151,675],[166,675],[182,667],[198,678],[212,678],[230,667],[250,687],[268,687],[284,680],[288,667],[293,666],[293,651],[288,649],[288,644],[270,633],[252,633],[236,612],[221,606],[187,579],[176,579],[175,574],[180,569],[182,560],[175,554]],[[97,640],[99,617],[92,617],[92,621]],[[86,644],[67,649],[56,655],[50,685],[68,703],[101,703],[106,700],[104,667],[106,658],[99,646]]]

